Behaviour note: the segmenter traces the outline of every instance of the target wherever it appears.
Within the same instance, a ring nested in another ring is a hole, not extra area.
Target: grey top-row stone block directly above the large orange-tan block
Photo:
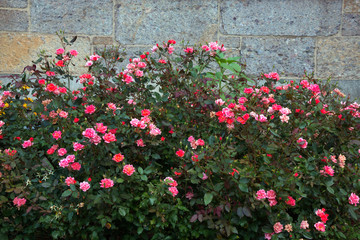
[[[31,31],[112,34],[112,0],[31,0]]]

